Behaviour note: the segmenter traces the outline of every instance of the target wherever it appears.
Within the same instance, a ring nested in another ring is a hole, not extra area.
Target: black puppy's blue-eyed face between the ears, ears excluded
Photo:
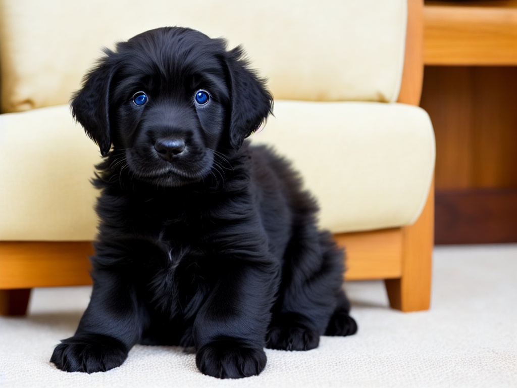
[[[140,179],[164,186],[209,174],[226,128],[224,48],[200,34],[144,34],[119,45],[112,142]]]

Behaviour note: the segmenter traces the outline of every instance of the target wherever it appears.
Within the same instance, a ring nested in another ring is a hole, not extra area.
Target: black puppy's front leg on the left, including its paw
[[[54,349],[50,360],[69,372],[93,373],[121,365],[142,333],[143,313],[132,282],[111,270],[97,270],[92,276],[92,299],[77,332]]]

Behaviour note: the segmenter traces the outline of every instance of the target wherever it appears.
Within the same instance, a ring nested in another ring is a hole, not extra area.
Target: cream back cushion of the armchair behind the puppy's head
[[[395,101],[406,0],[0,0],[2,111],[67,103],[102,46],[189,26],[244,43],[276,99]]]

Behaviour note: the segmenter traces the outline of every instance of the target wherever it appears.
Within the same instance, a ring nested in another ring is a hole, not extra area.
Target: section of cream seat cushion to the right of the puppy
[[[410,225],[429,194],[435,139],[418,107],[276,101],[275,117],[252,139],[293,161],[333,232]]]

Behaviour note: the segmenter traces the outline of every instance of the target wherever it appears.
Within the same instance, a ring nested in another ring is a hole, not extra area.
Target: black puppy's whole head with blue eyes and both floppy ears
[[[184,186],[208,176],[267,117],[271,96],[240,49],[186,28],[160,28],[107,51],[72,100],[103,156],[134,176]]]

